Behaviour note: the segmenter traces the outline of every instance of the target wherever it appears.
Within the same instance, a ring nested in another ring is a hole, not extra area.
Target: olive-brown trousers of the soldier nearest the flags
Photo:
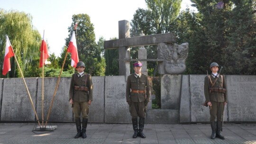
[[[82,112],[82,118],[88,118],[89,106],[88,102],[73,102],[73,113],[75,118],[80,118]]]

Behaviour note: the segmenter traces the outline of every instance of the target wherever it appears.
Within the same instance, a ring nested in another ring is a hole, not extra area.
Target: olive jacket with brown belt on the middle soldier
[[[131,90],[146,90],[146,93],[134,93]],[[136,74],[131,74],[127,78],[126,84],[126,101],[131,102],[143,102],[150,99],[150,86],[145,74],[137,76]]]

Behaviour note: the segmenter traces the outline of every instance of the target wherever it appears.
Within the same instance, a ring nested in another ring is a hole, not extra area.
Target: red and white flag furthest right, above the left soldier
[[[78,59],[78,53],[77,53],[77,46],[76,46],[74,31],[73,31],[73,34],[71,36],[67,51],[69,53],[71,53],[71,66],[76,67],[76,64],[79,62],[79,59]]]

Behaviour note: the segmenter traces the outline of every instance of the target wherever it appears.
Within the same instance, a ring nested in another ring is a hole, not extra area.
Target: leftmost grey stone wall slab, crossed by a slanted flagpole
[[[37,78],[25,78],[34,107],[36,107]],[[35,121],[30,98],[22,78],[4,79],[1,121]]]

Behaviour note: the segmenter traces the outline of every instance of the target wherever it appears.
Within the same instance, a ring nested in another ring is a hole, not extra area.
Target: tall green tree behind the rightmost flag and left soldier
[[[99,41],[99,45],[95,42],[94,27],[91,23],[90,17],[87,14],[73,15],[72,24],[68,27],[70,32],[69,36],[65,39],[65,46],[68,47],[70,38],[73,33],[73,28],[77,23],[76,30],[76,44],[79,56],[79,61],[86,64],[85,72],[94,75],[104,75],[105,72],[105,59],[101,57],[102,50],[102,39]],[[63,57],[63,54],[62,54]],[[69,69],[68,67],[65,67]],[[103,72],[104,71],[104,72]]]

